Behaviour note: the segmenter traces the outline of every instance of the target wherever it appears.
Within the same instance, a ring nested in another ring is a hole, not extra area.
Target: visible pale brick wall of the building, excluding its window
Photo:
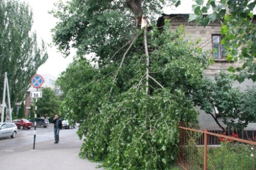
[[[159,18],[160,19],[160,18]],[[220,22],[213,22],[210,23],[205,28],[203,26],[197,26],[194,22],[188,22],[188,14],[170,14],[170,15],[163,15],[164,19],[170,19],[171,29],[170,31],[176,30],[180,25],[184,25],[185,32],[188,37],[190,37],[191,41],[196,42],[199,38],[201,39],[200,43],[197,46],[202,47],[203,50],[213,50],[213,43],[212,43],[212,35],[220,34]],[[210,67],[204,71],[204,74],[211,79],[214,79],[214,75],[219,73],[220,70],[227,70],[228,67],[241,67],[242,62],[228,62],[226,59],[215,59],[215,63],[210,65]],[[247,87],[255,86],[252,80],[246,79],[243,83],[234,82],[234,87],[239,87],[242,91],[246,90]],[[211,115],[206,114],[204,111],[199,110],[199,124],[202,129],[212,127],[212,129],[219,129],[216,122],[214,121]],[[222,119],[219,119],[219,122],[224,126],[222,123]],[[250,123],[248,129],[256,129],[256,123]]]

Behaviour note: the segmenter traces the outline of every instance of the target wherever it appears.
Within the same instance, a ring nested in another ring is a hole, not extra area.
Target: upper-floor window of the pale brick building
[[[223,47],[220,42],[224,38],[221,35],[212,35],[213,39],[213,57],[216,59],[224,59],[226,58],[226,49]]]

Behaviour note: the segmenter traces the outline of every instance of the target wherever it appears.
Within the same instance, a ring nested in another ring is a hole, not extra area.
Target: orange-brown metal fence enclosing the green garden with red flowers
[[[254,130],[199,130],[194,126],[179,126],[179,159],[189,170],[256,170]]]

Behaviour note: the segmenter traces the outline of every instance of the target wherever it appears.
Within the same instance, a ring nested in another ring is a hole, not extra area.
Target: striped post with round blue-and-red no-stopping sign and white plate
[[[43,85],[43,77],[39,74],[34,75],[31,78],[31,85],[36,88],[36,91],[31,91],[30,97],[36,98],[36,106],[34,108],[34,118],[36,118],[36,111],[37,111],[37,98],[42,97],[42,91],[38,91],[38,88]],[[33,144],[33,150],[36,145],[36,121],[34,121],[34,144]]]

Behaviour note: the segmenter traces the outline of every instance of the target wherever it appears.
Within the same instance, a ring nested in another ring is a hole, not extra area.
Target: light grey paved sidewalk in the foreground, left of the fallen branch
[[[104,168],[97,168],[100,163],[78,157],[82,142],[74,135],[60,138],[59,144],[54,144],[54,140],[36,143],[35,150],[31,144],[0,151],[0,167],[5,170],[103,170]]]

